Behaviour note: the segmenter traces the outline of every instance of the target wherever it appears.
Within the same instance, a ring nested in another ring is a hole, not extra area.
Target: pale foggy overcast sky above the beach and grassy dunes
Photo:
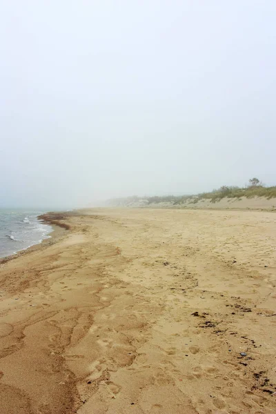
[[[276,184],[275,0],[0,2],[0,206]]]

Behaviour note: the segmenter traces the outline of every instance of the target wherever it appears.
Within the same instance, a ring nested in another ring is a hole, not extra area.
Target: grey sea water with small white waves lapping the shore
[[[0,209],[0,257],[14,255],[20,250],[48,239],[52,227],[37,216],[44,211]]]

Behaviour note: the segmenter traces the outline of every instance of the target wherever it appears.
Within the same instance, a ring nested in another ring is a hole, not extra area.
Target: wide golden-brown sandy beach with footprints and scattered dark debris
[[[275,213],[48,219],[0,267],[1,414],[275,414]]]

